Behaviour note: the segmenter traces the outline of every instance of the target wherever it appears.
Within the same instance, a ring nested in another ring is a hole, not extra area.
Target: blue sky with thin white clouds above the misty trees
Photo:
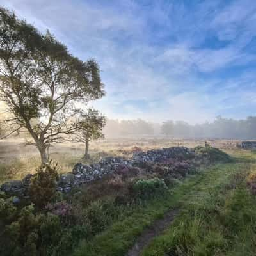
[[[2,0],[95,58],[109,118],[245,118],[256,109],[255,0]]]

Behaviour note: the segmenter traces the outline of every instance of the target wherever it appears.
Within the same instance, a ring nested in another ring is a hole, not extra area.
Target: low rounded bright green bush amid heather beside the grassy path
[[[161,195],[168,189],[163,179],[154,178],[148,180],[138,180],[133,186],[136,197],[141,200],[152,196]]]

